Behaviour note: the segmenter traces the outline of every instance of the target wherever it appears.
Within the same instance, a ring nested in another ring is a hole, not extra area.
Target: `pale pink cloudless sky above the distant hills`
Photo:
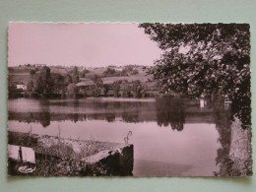
[[[9,66],[153,65],[160,53],[137,24],[9,23]]]

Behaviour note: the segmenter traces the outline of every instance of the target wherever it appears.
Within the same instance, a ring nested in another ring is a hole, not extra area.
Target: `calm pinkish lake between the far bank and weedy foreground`
[[[134,145],[134,176],[213,176],[228,154],[229,110],[188,98],[8,100],[8,130]]]

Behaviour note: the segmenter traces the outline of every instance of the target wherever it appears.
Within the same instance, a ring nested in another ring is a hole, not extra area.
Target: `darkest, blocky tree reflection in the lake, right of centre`
[[[172,130],[182,131],[185,123],[184,100],[160,97],[156,99],[156,104],[158,125],[170,125]]]

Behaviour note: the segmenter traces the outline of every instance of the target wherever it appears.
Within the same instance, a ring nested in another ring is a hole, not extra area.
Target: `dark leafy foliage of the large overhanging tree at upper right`
[[[165,92],[222,95],[250,124],[250,32],[247,24],[141,24],[163,53],[151,74]]]

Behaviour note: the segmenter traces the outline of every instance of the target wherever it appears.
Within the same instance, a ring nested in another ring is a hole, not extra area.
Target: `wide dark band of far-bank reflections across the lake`
[[[43,127],[49,126],[51,121],[120,120],[127,123],[157,122],[160,127],[181,131],[185,122],[215,122],[214,111],[209,104],[200,108],[199,100],[170,97],[158,97],[155,101],[23,98],[9,100],[8,107],[9,120],[39,122]]]

